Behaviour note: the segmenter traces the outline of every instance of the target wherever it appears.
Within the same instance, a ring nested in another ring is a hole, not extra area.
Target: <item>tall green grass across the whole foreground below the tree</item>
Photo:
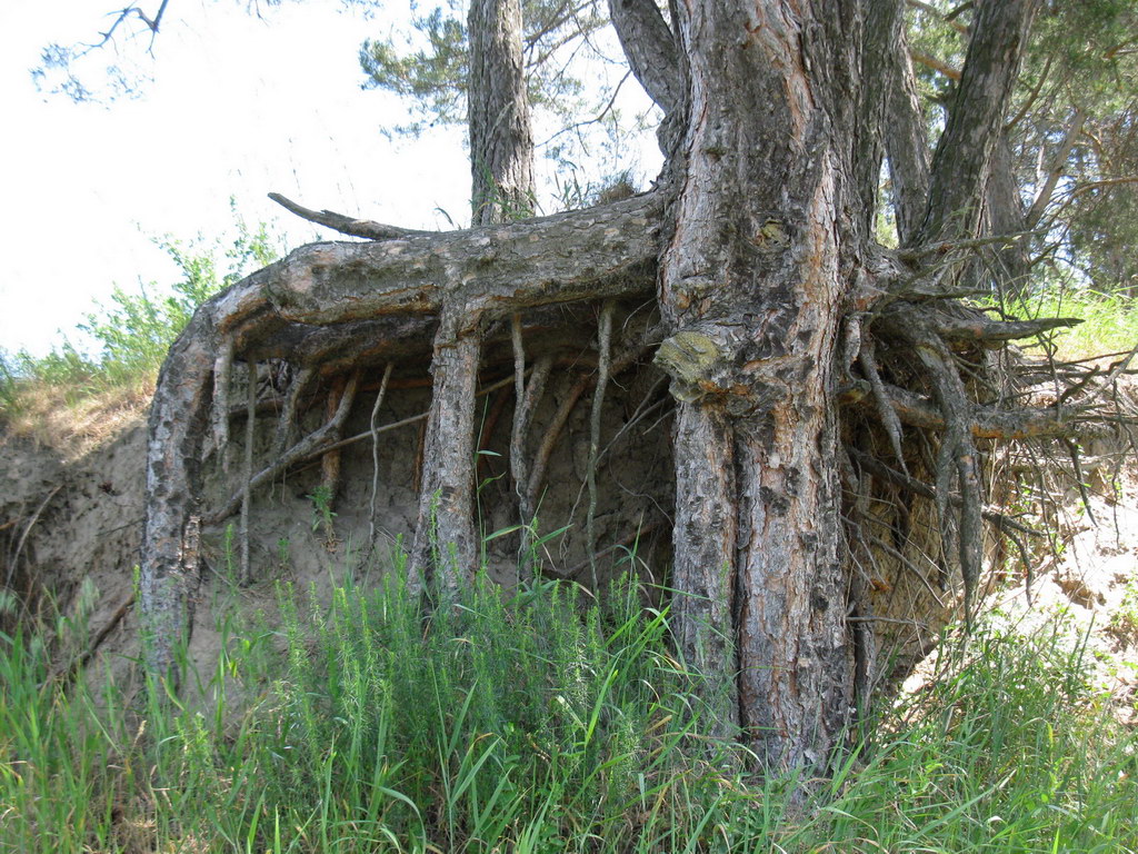
[[[52,632],[0,637],[0,849],[1138,851],[1138,745],[1057,633],[951,647],[803,800],[706,736],[634,588],[480,580],[429,617],[395,583],[280,603],[278,627],[220,626],[197,709],[67,689]]]

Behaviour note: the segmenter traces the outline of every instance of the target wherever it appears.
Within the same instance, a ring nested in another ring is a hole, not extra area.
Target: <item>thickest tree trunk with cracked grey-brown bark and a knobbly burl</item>
[[[824,759],[852,700],[833,393],[860,32],[840,6],[701,3],[678,22],[692,118],[657,358],[682,401],[674,607],[690,658],[737,670],[732,705],[772,769]]]

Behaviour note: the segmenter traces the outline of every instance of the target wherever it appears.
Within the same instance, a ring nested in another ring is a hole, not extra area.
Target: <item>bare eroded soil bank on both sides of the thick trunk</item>
[[[608,408],[604,434],[616,437],[612,450],[619,453],[605,460],[599,471],[603,499],[596,517],[599,547],[609,549],[601,564],[603,572],[608,575],[633,569],[649,583],[666,582],[663,573],[670,563],[673,481],[666,410],[659,420],[653,414],[651,421],[637,425],[635,442],[620,437],[621,428],[630,419],[636,420],[634,416],[645,405],[643,402],[654,400],[657,379],[651,375],[632,379]],[[549,422],[567,393],[568,381],[553,383],[547,405],[536,416],[538,435],[543,421]],[[487,400],[484,413],[486,435],[479,463],[484,535],[516,524],[506,462],[509,389],[503,397]],[[381,422],[407,419],[428,402],[426,392],[396,395],[385,402]],[[363,401],[358,409],[347,435],[368,432],[371,401]],[[320,412],[314,410],[306,417],[315,422]],[[14,621],[38,610],[58,608],[68,613],[82,607],[88,637],[80,643],[97,647],[94,651],[102,660],[124,674],[132,671],[139,650],[132,605],[146,498],[145,418],[141,403],[125,413],[119,408],[102,416],[104,422],[113,426],[104,424],[97,430],[98,440],[82,442],[48,442],[33,438],[27,430],[0,426],[0,582],[15,594],[15,605],[7,610],[0,608],[0,629],[7,630]],[[645,424],[651,425],[650,429],[644,429]],[[238,432],[244,433],[234,428]],[[272,441],[272,420],[265,419],[264,425],[258,424],[255,442],[267,447]],[[190,664],[199,672],[214,666],[224,623],[236,610],[271,614],[277,582],[311,590],[321,601],[345,574],[361,581],[374,578],[389,567],[393,555],[407,542],[414,526],[418,444],[417,424],[385,434],[378,446],[378,467],[370,440],[345,447],[336,500],[328,508],[333,515],[322,515],[312,499],[321,483],[319,461],[258,492],[249,525],[254,573],[247,584],[239,583],[237,518],[207,528],[203,537],[206,573],[198,592]],[[1138,660],[1138,488],[1133,454],[1129,445],[1090,450],[1097,454],[1097,463],[1085,469],[1091,487],[1090,512],[1069,484],[1065,518],[1050,519],[1061,526],[1059,539],[1065,548],[1055,557],[1036,555],[1030,605],[1022,588],[1007,590],[1007,582],[1021,574],[1011,561],[1000,575],[1005,592],[998,606],[1028,622],[1058,613],[1085,623],[1099,662],[1113,662],[1100,670],[1104,674],[1110,670],[1121,681],[1112,690],[1121,690],[1122,697],[1132,700],[1138,684],[1138,665],[1132,664]],[[588,425],[580,412],[567,422],[550,460],[550,487],[539,509],[543,533],[570,524],[568,532],[542,547],[543,563],[555,574],[576,574],[582,580],[588,574],[583,540],[587,454]],[[1128,459],[1128,465],[1119,465]],[[216,460],[212,463],[207,500],[220,506],[240,488],[240,475],[224,475]],[[378,483],[377,544],[369,550],[373,478]],[[621,543],[637,532],[632,555],[630,543]],[[489,539],[485,547],[492,575],[506,584],[517,578],[517,542],[516,535],[505,534]],[[900,576],[875,596],[875,613],[887,627],[897,626],[887,638],[892,646],[883,650],[883,662],[916,660],[931,648],[942,625],[918,626],[912,621],[901,625],[912,596],[916,596],[906,592],[904,585],[916,585],[918,581]],[[83,588],[84,596],[80,597]],[[945,596],[949,602],[958,601],[953,591]],[[943,619],[951,618],[953,613],[951,605],[946,606]],[[1132,701],[1123,705],[1133,708]]]

